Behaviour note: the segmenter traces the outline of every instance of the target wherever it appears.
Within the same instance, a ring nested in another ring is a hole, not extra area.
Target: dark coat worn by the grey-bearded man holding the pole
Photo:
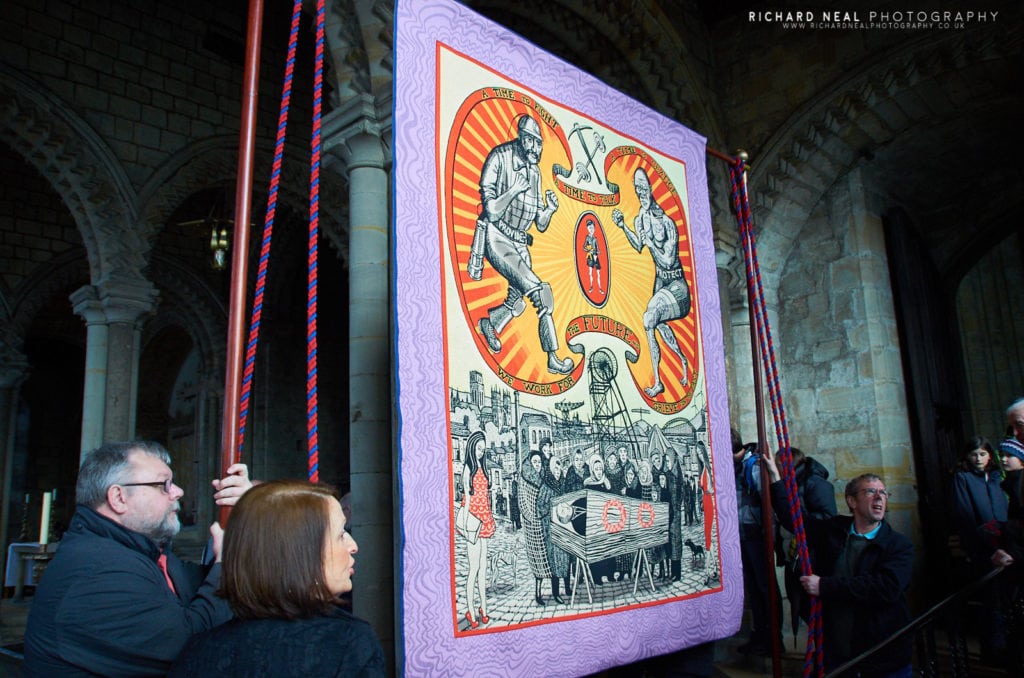
[[[231,619],[206,578],[168,554],[171,592],[147,537],[79,506],[36,590],[25,632],[28,676],[164,675],[188,638]]]

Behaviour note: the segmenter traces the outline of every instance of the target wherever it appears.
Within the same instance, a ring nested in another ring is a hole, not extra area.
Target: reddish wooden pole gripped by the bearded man
[[[227,308],[227,364],[224,370],[224,421],[220,436],[220,471],[240,461],[239,396],[245,346],[246,287],[249,273],[249,222],[252,211],[253,156],[256,150],[256,102],[259,94],[259,53],[263,0],[249,0],[246,31],[246,70],[242,87],[239,130],[239,167],[234,189],[234,237],[231,243],[231,292]],[[220,507],[218,519],[227,523],[230,509]]]

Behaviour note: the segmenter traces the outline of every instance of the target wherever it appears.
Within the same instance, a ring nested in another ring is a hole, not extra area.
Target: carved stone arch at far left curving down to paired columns
[[[0,139],[53,186],[78,224],[91,280],[139,280],[135,192],[100,137],[45,86],[0,63]]]

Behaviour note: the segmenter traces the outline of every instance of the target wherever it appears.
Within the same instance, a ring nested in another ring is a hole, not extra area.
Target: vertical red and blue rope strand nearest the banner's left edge
[[[309,162],[309,248],[306,288],[306,457],[310,482],[319,480],[316,419],[316,250],[319,240],[321,102],[324,92],[325,0],[316,0],[316,57],[313,72],[312,157]]]

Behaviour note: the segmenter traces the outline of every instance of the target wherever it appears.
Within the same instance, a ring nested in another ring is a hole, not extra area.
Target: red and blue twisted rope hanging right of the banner
[[[730,166],[732,183],[732,204],[739,223],[742,240],[743,262],[746,268],[748,289],[752,291],[755,325],[757,326],[758,345],[760,348],[764,370],[767,375],[768,394],[771,402],[772,419],[775,424],[775,436],[778,441],[778,459],[782,466],[782,478],[785,482],[786,500],[790,515],[793,518],[794,534],[797,539],[797,557],[800,570],[804,576],[811,575],[811,559],[807,550],[807,534],[804,528],[803,510],[800,505],[800,494],[793,470],[793,454],[790,449],[790,430],[785,421],[785,408],[782,405],[782,392],[778,378],[778,364],[775,359],[775,348],[771,337],[771,326],[768,322],[768,309],[765,303],[764,286],[761,281],[761,266],[758,263],[757,245],[754,237],[754,218],[751,214],[750,200],[746,194],[745,167],[742,159],[735,159]],[[822,645],[821,599],[811,596],[811,611],[808,620],[807,650],[804,654],[804,676],[824,674],[824,655]]]

